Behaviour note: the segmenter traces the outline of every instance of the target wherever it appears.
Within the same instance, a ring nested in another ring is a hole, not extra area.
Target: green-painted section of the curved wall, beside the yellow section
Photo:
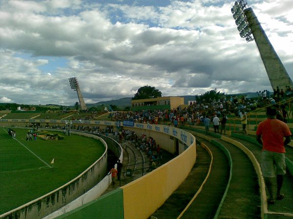
[[[123,190],[116,189],[57,219],[123,219]]]

